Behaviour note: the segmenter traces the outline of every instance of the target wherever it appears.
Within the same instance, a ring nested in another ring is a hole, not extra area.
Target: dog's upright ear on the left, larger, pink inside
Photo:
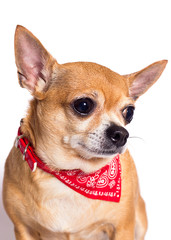
[[[22,26],[17,26],[15,32],[15,60],[20,85],[42,99],[50,84],[53,65],[57,62]]]

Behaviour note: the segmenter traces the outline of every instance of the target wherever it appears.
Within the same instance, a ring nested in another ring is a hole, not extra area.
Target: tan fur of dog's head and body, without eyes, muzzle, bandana
[[[24,72],[18,44],[23,33],[43,52],[46,63],[41,76],[44,80]],[[54,169],[79,168],[93,172],[108,163],[112,156],[90,157],[75,145],[75,141],[81,139],[88,145],[88,134],[101,129],[102,123],[125,125],[121,110],[134,105],[139,97],[140,94],[131,96],[130,88],[141,73],[121,76],[98,64],[85,62],[59,65],[23,27],[17,28],[15,47],[18,71],[24,75],[19,76],[20,84],[34,96],[22,132],[37,155]],[[153,74],[153,82],[160,76],[166,61],[156,64],[159,68]],[[146,73],[146,69],[141,72]],[[29,81],[34,84],[29,85]],[[142,93],[151,85],[152,81]],[[97,102],[90,116],[81,118],[71,109],[72,101],[80,96],[91,97]],[[6,161],[3,199],[15,226],[16,239],[143,240],[147,218],[136,168],[128,150],[120,157],[121,201],[114,203],[85,198],[40,169],[32,173],[20,151],[13,147]]]

